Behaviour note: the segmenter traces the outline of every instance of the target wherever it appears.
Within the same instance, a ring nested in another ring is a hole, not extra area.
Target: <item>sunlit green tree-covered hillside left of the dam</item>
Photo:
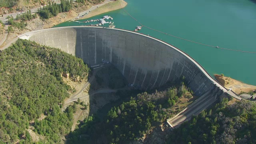
[[[86,78],[88,68],[82,59],[28,40],[0,52],[0,143],[22,138],[41,114],[47,117],[35,121],[36,132],[54,142],[68,132],[72,110],[63,113],[58,105],[74,90],[63,82],[62,72]]]

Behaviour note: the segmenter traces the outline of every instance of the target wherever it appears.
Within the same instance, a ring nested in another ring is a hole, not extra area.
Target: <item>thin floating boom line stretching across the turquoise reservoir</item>
[[[121,6],[121,4],[120,4],[120,6]],[[121,6],[122,7],[122,6]],[[124,10],[124,8],[122,7],[122,9]],[[169,36],[172,36],[172,37],[174,37],[174,38],[179,38],[179,39],[181,39],[181,40],[186,40],[186,41],[188,41],[188,42],[193,42],[193,43],[196,43],[196,44],[201,44],[201,45],[204,45],[204,46],[209,46],[209,47],[212,47],[212,48],[219,48],[219,49],[223,49],[223,50],[232,50],[232,51],[236,51],[236,52],[246,52],[246,53],[256,53],[256,52],[250,52],[250,51],[243,51],[243,50],[233,50],[233,49],[229,49],[229,48],[220,48],[220,47],[218,47],[218,46],[211,46],[211,45],[208,45],[208,44],[202,44],[202,43],[200,43],[200,42],[194,42],[194,41],[192,41],[192,40],[187,40],[187,39],[185,39],[185,38],[180,38],[180,37],[178,37],[178,36],[174,36],[174,35],[171,35],[171,34],[167,34],[167,33],[165,33],[165,32],[161,32],[161,31],[159,31],[159,30],[155,30],[155,29],[153,29],[153,28],[150,28],[150,27],[148,27],[148,26],[145,26],[145,25],[143,25],[142,23],[140,23],[138,20],[136,20],[136,18],[134,18],[132,15],[130,15],[126,10],[124,10],[124,12],[126,12],[130,17],[132,17],[136,22],[138,22],[141,26],[144,26],[144,27],[146,27],[146,28],[148,28],[148,29],[151,29],[151,30],[154,30],[154,31],[156,31],[156,32],[160,32],[160,33],[162,33],[162,34],[166,34],[166,35],[169,35]]]

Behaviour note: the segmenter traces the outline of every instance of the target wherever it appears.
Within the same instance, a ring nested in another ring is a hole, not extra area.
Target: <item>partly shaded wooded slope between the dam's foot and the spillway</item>
[[[182,83],[160,92],[144,92],[131,97],[129,101],[113,107],[102,121],[95,116],[84,120],[81,127],[70,134],[68,142],[127,143],[136,140],[171,114],[176,114],[178,111],[170,109],[176,107],[179,98],[192,97],[188,89]]]

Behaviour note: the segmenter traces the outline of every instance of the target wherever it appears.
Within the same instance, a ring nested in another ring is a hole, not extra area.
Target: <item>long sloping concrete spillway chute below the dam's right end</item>
[[[185,121],[188,121],[192,118],[193,115],[198,115],[202,110],[206,109],[208,106],[213,104],[217,99],[215,96],[212,96],[211,92],[208,92],[198,98],[195,102],[190,104],[187,108],[182,110],[182,112],[178,113],[173,118],[167,120],[167,123],[172,128],[178,128],[180,124]]]

